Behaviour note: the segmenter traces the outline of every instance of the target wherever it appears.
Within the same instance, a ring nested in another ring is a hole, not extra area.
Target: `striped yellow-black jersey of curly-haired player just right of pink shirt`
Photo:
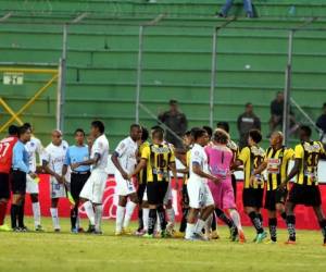
[[[243,163],[243,188],[250,188],[250,177],[253,174],[265,158],[265,151],[259,146],[244,147],[242,148],[238,159]],[[258,184],[254,182],[254,189],[264,188],[264,184]]]

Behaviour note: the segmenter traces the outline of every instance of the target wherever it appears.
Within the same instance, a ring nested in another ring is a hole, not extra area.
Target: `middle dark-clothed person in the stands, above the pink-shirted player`
[[[252,103],[247,103],[244,112],[238,118],[240,149],[247,146],[248,133],[251,129],[261,129],[261,120],[253,113]]]

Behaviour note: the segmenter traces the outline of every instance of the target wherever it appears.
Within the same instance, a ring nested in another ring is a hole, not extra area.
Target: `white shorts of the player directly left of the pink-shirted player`
[[[189,207],[201,209],[214,205],[214,199],[209,185],[197,178],[189,178],[187,183]]]

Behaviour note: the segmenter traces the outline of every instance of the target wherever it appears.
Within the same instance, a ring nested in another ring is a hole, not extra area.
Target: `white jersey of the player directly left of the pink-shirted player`
[[[205,182],[206,178],[203,178],[197,174],[193,173],[192,171],[192,164],[193,163],[198,163],[202,171],[205,173],[209,173],[209,160],[208,160],[208,156],[205,153],[205,150],[202,146],[195,144],[193,147],[191,148],[190,151],[190,165],[189,165],[189,173],[190,173],[190,177],[189,178],[196,178],[196,180],[200,180],[202,182]]]

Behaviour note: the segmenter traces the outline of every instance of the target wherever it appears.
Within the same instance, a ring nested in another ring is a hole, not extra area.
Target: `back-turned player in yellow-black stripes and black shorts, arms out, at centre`
[[[166,237],[166,219],[163,201],[170,182],[170,169],[174,177],[176,175],[175,158],[171,147],[164,144],[164,133],[162,128],[151,132],[152,144],[145,147],[141,160],[129,177],[137,175],[139,171],[147,168],[147,197],[149,203],[149,226],[145,237],[154,237],[154,227],[159,214],[161,224],[161,236]]]

